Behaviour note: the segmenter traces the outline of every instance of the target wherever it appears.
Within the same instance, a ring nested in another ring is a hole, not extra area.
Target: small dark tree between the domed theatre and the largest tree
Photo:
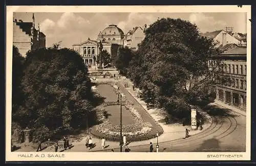
[[[120,74],[126,75],[127,68],[129,67],[129,63],[134,57],[134,52],[129,49],[127,46],[123,48],[120,46],[117,51],[117,57],[115,60],[115,65],[118,70],[120,70]]]

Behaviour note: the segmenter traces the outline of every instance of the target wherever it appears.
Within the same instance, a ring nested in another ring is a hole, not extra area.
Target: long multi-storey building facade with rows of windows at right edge
[[[217,100],[246,110],[246,48],[237,46],[218,56],[222,69],[231,78],[231,82],[217,86]],[[208,62],[212,66],[215,59]]]

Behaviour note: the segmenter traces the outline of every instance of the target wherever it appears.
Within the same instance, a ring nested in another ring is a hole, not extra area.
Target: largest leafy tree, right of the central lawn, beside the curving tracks
[[[216,43],[200,36],[196,25],[162,18],[145,33],[129,64],[128,75],[156,106],[172,114],[189,111],[189,104],[208,95],[209,86],[227,81],[220,70],[220,61],[209,70],[208,60],[218,52]]]

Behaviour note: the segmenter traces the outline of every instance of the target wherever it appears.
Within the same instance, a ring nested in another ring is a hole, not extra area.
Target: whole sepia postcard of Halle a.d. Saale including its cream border
[[[250,19],[7,6],[6,161],[250,160]]]

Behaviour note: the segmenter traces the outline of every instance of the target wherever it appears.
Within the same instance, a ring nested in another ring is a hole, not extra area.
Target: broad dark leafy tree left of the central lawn
[[[93,93],[88,69],[78,53],[38,49],[28,52],[24,66],[25,98],[15,114],[22,127],[49,134],[86,125]]]

